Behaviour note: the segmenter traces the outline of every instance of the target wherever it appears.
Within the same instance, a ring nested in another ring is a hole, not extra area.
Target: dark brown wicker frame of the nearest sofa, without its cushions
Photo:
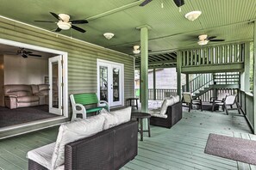
[[[65,169],[119,169],[134,159],[138,149],[138,124],[129,121],[65,146]],[[47,169],[28,160],[29,170]]]

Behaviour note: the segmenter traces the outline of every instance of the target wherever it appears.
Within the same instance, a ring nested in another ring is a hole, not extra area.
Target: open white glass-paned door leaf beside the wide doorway
[[[49,58],[49,112],[62,115],[62,56]]]

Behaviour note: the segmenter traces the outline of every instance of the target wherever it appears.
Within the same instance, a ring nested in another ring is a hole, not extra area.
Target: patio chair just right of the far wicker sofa
[[[202,100],[200,100],[200,99],[193,99],[192,98],[192,94],[190,92],[184,92],[183,93],[182,102],[185,103],[185,105],[183,105],[183,106],[188,106],[189,107],[189,112],[192,109],[193,105],[199,106],[201,111],[203,111],[203,109],[202,109]]]

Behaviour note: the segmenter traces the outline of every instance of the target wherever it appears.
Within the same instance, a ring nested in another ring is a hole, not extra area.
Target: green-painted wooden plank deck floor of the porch
[[[151,126],[152,137],[139,141],[139,154],[123,170],[162,169],[256,169],[245,163],[204,154],[209,133],[256,140],[244,117],[237,113],[184,112],[171,129]],[[58,127],[36,131],[0,141],[0,167],[4,170],[28,169],[28,150],[53,143]],[[0,169],[1,169],[0,168]]]

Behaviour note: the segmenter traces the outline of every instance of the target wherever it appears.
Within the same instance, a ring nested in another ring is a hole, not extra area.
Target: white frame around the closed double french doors
[[[121,73],[120,73],[120,83],[121,83],[121,86],[120,86],[120,101],[121,101],[121,105],[118,105],[118,106],[124,106],[124,64],[120,64],[120,63],[116,63],[116,62],[111,62],[111,61],[108,61],[108,60],[103,60],[103,59],[97,59],[97,95],[98,95],[98,99],[100,97],[100,86],[99,86],[99,83],[100,83],[100,75],[99,75],[99,65],[100,64],[107,64],[107,65],[119,65],[120,68],[121,68]],[[108,73],[109,75],[109,73]],[[112,81],[112,78],[109,79],[109,81]],[[109,89],[109,88],[108,88]],[[109,99],[109,92],[108,92],[108,99]],[[111,105],[111,100],[112,99],[109,99],[109,104]]]

